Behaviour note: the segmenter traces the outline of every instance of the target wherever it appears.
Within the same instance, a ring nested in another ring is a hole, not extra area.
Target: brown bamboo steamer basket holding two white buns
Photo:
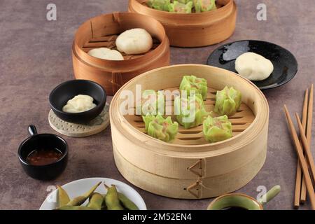
[[[153,36],[153,48],[144,55],[124,55],[111,61],[87,55],[93,48],[116,48],[116,38],[127,29],[143,28]],[[111,13],[87,20],[78,28],[72,46],[73,72],[77,79],[93,80],[108,95],[115,94],[140,73],[169,65],[169,40],[164,27],[146,15]]]

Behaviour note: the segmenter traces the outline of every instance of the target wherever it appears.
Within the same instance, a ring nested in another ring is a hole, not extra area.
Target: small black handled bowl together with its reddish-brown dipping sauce
[[[34,125],[29,125],[28,131],[31,137],[25,139],[18,149],[24,171],[38,180],[57,178],[68,162],[68,144],[55,134],[37,134]]]

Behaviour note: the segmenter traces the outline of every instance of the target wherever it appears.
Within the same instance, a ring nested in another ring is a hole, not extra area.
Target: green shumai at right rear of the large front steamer
[[[233,116],[241,106],[241,92],[233,87],[227,87],[222,91],[216,92],[216,106],[214,112],[220,116]]]

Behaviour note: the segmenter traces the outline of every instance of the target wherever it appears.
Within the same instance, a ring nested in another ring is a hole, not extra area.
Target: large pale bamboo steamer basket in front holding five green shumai
[[[175,141],[169,144],[145,134],[140,116],[121,113],[120,106],[125,102],[123,90],[135,94],[137,84],[142,90],[174,90],[187,74],[207,79],[207,111],[214,109],[216,90],[228,85],[241,91],[241,107],[229,118],[232,139],[209,144],[203,137],[202,126],[190,130],[179,127]],[[125,179],[151,193],[183,199],[215,197],[245,186],[265,163],[267,99],[258,87],[232,71],[201,64],[148,71],[118,91],[109,113],[116,166]]]

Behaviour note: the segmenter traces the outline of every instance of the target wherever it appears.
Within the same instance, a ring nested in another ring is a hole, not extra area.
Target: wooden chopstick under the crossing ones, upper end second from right
[[[307,126],[307,106],[309,103],[309,89],[305,91],[304,102],[303,102],[303,111],[302,111],[302,127],[306,130]],[[297,159],[297,169],[296,169],[296,178],[295,178],[295,194],[294,194],[294,208],[298,209],[300,207],[300,197],[301,197],[301,187],[302,187],[302,169],[300,161]],[[305,188],[306,190],[306,188]]]

